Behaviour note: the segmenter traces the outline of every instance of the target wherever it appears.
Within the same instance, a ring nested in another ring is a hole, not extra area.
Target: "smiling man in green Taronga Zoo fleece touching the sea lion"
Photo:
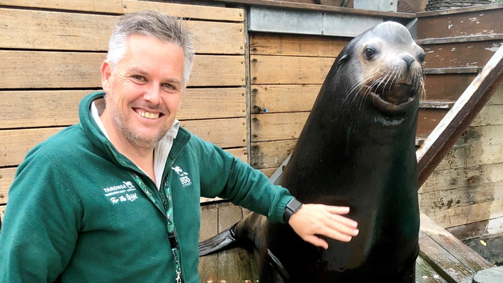
[[[84,98],[79,124],[35,146],[18,168],[0,282],[199,282],[200,196],[273,222],[286,216],[323,248],[315,234],[356,236],[356,222],[339,215],[349,208],[286,209],[288,190],[179,126],[191,37],[159,13],[121,18],[101,67],[104,93]]]

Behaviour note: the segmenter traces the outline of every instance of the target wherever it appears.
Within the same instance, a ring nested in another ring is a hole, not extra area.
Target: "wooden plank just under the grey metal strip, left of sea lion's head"
[[[348,42],[346,37],[253,33],[250,54],[337,57]]]

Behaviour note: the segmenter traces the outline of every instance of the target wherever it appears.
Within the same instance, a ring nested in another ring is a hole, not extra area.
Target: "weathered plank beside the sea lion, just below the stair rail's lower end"
[[[503,200],[503,181],[419,193],[419,209],[422,212],[429,213],[494,200]]]

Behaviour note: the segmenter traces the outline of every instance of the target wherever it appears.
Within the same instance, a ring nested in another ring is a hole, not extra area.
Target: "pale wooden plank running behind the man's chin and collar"
[[[202,139],[220,147],[246,146],[246,119],[189,120],[181,125]],[[17,166],[33,146],[59,132],[63,127],[8,129],[0,131],[0,166]],[[16,141],[16,142],[13,142]]]

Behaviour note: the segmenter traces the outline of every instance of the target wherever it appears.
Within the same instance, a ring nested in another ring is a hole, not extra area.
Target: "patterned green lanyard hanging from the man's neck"
[[[147,186],[145,185],[145,183],[143,183],[143,180],[138,175],[136,175],[136,173],[134,172],[130,173],[135,182],[142,188],[147,197],[149,197],[149,200],[151,200],[160,209],[161,207],[159,206],[159,202],[154,199],[154,196],[147,189]],[[171,253],[173,253],[175,261],[176,283],[183,283],[184,280],[183,276],[181,275],[181,264],[180,264],[180,245],[178,242],[178,236],[173,221],[173,199],[171,197],[171,187],[169,187],[168,182],[164,182],[164,192],[166,194],[166,200],[168,201],[167,204],[164,205],[164,209],[166,211],[166,222],[168,228],[169,244],[171,245]]]

